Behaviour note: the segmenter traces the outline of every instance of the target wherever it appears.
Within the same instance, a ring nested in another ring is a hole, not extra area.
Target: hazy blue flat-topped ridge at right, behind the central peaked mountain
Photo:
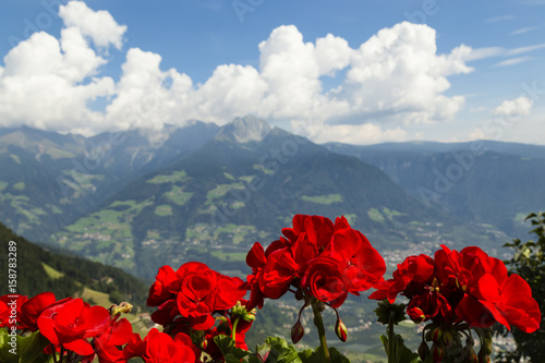
[[[489,141],[326,146],[380,168],[425,203],[510,235],[524,233],[522,218],[545,202],[545,146]]]

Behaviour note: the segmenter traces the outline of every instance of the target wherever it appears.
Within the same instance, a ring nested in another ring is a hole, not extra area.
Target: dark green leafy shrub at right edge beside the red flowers
[[[504,246],[514,250],[514,255],[510,261],[505,262],[510,273],[520,275],[528,281],[532,289],[532,297],[540,304],[540,310],[545,312],[545,213],[532,213],[525,220],[532,223],[530,233],[535,234],[535,241],[521,242],[514,239]],[[504,330],[507,335],[507,331]],[[517,342],[517,350],[511,353],[504,352],[501,359],[505,362],[520,362],[522,356],[528,356],[531,362],[545,362],[545,324],[543,322],[541,329],[533,334],[525,334],[516,327],[512,328],[512,335]]]

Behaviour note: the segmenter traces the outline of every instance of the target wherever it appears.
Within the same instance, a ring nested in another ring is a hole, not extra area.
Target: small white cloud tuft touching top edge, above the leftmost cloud
[[[97,47],[113,45],[121,49],[125,25],[119,25],[107,11],[93,11],[83,1],[70,1],[59,7],[59,15],[68,27],[77,27],[84,36],[90,37]]]

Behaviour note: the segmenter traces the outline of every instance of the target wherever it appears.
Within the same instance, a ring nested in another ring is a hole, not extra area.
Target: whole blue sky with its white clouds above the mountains
[[[545,1],[2,0],[0,125],[545,144]],[[9,19],[7,19],[9,17]]]

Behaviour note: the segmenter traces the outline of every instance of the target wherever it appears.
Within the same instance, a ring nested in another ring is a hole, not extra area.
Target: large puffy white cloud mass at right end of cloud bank
[[[470,48],[437,55],[435,31],[400,23],[378,32],[354,52],[340,96],[352,112],[409,123],[450,120],[463,106],[461,96],[443,95],[448,75],[472,71],[464,63]]]

